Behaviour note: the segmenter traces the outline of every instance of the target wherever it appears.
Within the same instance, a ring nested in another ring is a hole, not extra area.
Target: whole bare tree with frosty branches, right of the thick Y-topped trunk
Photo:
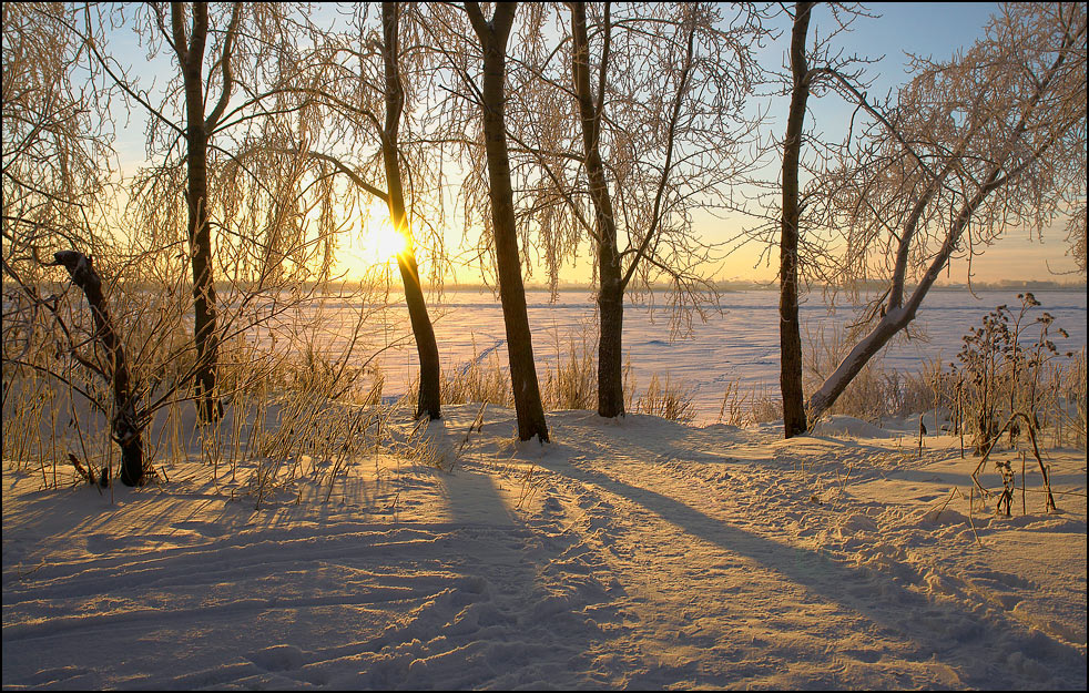
[[[732,206],[729,185],[745,166],[737,152],[755,128],[743,115],[755,83],[749,49],[763,30],[747,6],[729,18],[703,3],[592,7],[591,21],[587,3],[570,3],[569,37],[525,59],[530,79],[510,130],[538,171],[528,213],[553,285],[580,237],[593,247],[598,412],[615,417],[624,414],[625,295],[664,279],[674,308],[713,297],[713,246],[692,233],[692,214]],[[559,70],[556,55],[567,59]]]

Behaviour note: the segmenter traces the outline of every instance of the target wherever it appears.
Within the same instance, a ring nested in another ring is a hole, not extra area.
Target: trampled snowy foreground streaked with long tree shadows
[[[1004,518],[917,420],[557,411],[541,445],[488,407],[458,452],[479,410],[328,502],[322,460],[259,505],[199,455],[101,493],[6,461],[3,687],[1086,689],[1083,451]]]

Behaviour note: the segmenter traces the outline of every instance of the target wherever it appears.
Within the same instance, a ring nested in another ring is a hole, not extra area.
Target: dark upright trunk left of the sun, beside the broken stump
[[[182,3],[174,2],[171,13],[175,50],[182,65],[185,86],[185,141],[189,181],[185,203],[189,211],[189,244],[193,261],[193,322],[196,343],[194,387],[201,420],[215,421],[223,416],[216,398],[215,282],[212,276],[212,233],[208,224],[207,123],[204,120],[204,45],[207,40],[207,3],[193,3],[193,22],[186,41]]]

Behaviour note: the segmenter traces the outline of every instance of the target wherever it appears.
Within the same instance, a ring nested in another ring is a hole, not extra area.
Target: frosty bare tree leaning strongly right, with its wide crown
[[[908,326],[950,259],[1085,205],[1083,3],[1004,4],[971,49],[912,71],[897,108],[873,112],[823,182],[828,226],[845,230],[841,281],[887,288],[868,334],[810,398],[812,417]]]

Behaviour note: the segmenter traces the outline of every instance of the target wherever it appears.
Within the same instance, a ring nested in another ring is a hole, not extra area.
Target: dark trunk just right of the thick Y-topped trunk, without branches
[[[609,19],[605,6],[604,48],[601,57],[602,75],[609,60]],[[598,310],[600,327],[598,337],[598,414],[612,418],[624,415],[623,383],[623,327],[624,282],[617,251],[617,221],[601,163],[600,133],[603,94],[598,94],[594,106],[590,92],[590,41],[587,35],[586,3],[571,3],[571,35],[574,42],[572,74],[574,95],[582,122],[583,161],[589,179],[590,198],[593,201],[598,233]],[[603,80],[599,80],[599,85]],[[603,89],[599,86],[599,90]]]

